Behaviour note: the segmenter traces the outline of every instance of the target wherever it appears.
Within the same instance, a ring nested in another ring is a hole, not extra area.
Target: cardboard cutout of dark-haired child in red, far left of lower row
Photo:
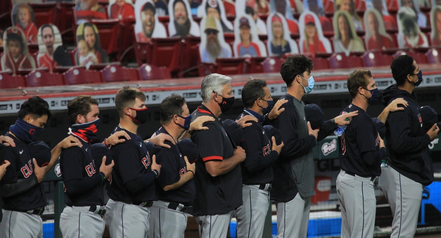
[[[13,74],[22,69],[34,69],[35,61],[29,55],[26,37],[21,29],[11,26],[3,34],[4,52],[1,57],[2,70],[10,70]]]

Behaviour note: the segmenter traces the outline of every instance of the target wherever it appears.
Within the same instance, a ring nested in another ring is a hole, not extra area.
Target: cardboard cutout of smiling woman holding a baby
[[[85,62],[85,60],[82,59],[90,59],[93,58],[93,56],[96,58],[96,60],[93,60],[93,63],[109,62],[107,53],[101,48],[100,35],[98,34],[97,26],[90,22],[81,23],[78,26],[77,47],[78,51],[75,52],[76,65],[82,65]]]

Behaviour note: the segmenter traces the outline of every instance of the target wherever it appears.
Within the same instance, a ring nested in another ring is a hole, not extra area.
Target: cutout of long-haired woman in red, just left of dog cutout
[[[367,50],[382,50],[392,48],[392,37],[386,33],[383,18],[375,8],[364,12],[364,25],[366,26],[365,44]]]

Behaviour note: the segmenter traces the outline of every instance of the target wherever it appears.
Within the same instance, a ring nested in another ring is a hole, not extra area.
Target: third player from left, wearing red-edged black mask
[[[161,165],[149,155],[138,126],[146,123],[146,95],[141,90],[123,87],[116,93],[115,106],[120,124],[113,132],[124,130],[130,140],[111,146],[115,166],[108,177],[110,186],[105,221],[112,238],[146,238],[149,233],[149,207],[157,201],[155,180]]]

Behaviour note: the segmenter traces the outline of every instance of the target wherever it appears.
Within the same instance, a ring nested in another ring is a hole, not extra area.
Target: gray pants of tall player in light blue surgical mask
[[[277,238],[306,238],[311,197],[299,193],[288,202],[276,202]]]

